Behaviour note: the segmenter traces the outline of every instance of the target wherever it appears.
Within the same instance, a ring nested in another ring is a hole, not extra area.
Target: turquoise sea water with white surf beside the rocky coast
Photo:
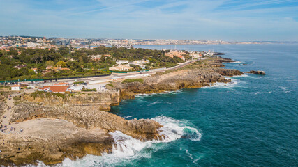
[[[142,46],[161,49],[161,46]],[[174,46],[162,46],[174,49]],[[298,45],[182,45],[224,52],[248,65],[231,84],[139,95],[112,107],[128,119],[165,125],[164,142],[142,143],[116,132],[114,154],[66,159],[62,166],[298,166]]]

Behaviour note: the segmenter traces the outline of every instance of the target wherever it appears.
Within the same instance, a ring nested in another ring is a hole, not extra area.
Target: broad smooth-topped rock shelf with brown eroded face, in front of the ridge
[[[66,120],[38,118],[22,124],[22,133],[0,134],[1,165],[17,166],[40,160],[57,164],[66,157],[111,152],[113,138],[105,129],[84,129]]]

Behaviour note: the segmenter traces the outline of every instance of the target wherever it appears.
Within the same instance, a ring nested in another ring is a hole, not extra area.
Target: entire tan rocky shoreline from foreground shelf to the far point
[[[215,82],[228,83],[224,76],[241,75],[224,67],[228,58],[209,58],[179,70],[154,74],[143,82],[113,82],[107,93],[55,95],[24,94],[16,100],[9,122],[22,132],[0,133],[1,165],[22,166],[36,160],[45,164],[61,163],[86,154],[111,153],[113,138],[109,132],[121,131],[142,141],[158,140],[163,127],[149,119],[126,120],[112,113],[110,106],[140,93],[161,93],[181,88],[200,88]],[[6,108],[5,102],[0,109]],[[3,112],[0,111],[3,114]]]

